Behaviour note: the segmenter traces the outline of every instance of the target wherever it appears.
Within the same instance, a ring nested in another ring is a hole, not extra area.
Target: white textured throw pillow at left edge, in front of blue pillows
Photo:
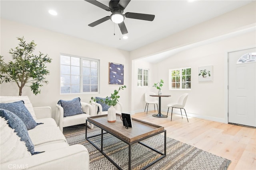
[[[1,128],[1,152],[0,162],[9,162],[20,158],[30,156],[30,152],[24,143],[20,141],[20,137],[14,132],[14,129],[10,128],[7,121],[0,117],[0,128]]]

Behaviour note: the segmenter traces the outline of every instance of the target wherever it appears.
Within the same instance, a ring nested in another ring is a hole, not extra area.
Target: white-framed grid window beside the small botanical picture
[[[190,89],[191,68],[177,68],[169,70],[169,90]]]

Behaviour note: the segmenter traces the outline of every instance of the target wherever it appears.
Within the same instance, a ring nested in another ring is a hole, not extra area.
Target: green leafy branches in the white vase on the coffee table
[[[107,104],[108,106],[116,106],[117,102],[119,102],[119,98],[120,96],[118,95],[119,91],[120,90],[124,90],[124,88],[126,88],[126,86],[120,86],[118,88],[118,90],[114,90],[114,93],[111,94],[111,96],[107,96],[105,100],[102,100],[102,99],[96,99],[94,97],[91,97],[91,100],[93,100],[94,102],[97,102],[97,101],[100,101],[102,103],[105,103]],[[91,102],[91,101],[90,101]]]

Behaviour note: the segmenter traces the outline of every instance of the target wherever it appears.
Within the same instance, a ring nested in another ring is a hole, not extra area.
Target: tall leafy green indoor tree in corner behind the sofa
[[[5,63],[3,56],[0,56],[0,84],[16,82],[21,96],[22,88],[30,83],[30,89],[37,95],[41,92],[39,87],[43,86],[42,83],[48,84],[46,75],[50,74],[50,71],[46,69],[45,64],[51,63],[52,59],[41,52],[39,55],[32,54],[36,47],[34,40],[26,44],[24,37],[17,39],[20,41],[18,47],[9,51],[12,61]]]

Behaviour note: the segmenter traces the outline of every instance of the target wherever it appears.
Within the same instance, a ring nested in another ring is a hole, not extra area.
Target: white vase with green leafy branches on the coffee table
[[[91,97],[91,100],[93,100],[94,102],[100,101],[110,106],[108,109],[108,122],[110,123],[116,122],[116,109],[114,108],[114,106],[116,106],[117,102],[119,102],[118,100],[120,98],[120,96],[118,95],[119,91],[124,90],[124,88],[126,88],[125,85],[120,86],[118,90],[114,90],[114,93],[111,94],[109,97],[107,96],[104,100]]]

